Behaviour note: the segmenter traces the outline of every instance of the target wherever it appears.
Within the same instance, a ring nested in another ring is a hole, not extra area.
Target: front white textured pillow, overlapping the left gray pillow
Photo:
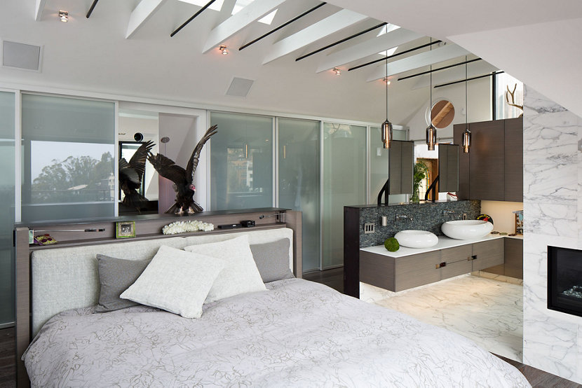
[[[162,245],[142,275],[120,298],[200,318],[202,305],[224,261]]]

